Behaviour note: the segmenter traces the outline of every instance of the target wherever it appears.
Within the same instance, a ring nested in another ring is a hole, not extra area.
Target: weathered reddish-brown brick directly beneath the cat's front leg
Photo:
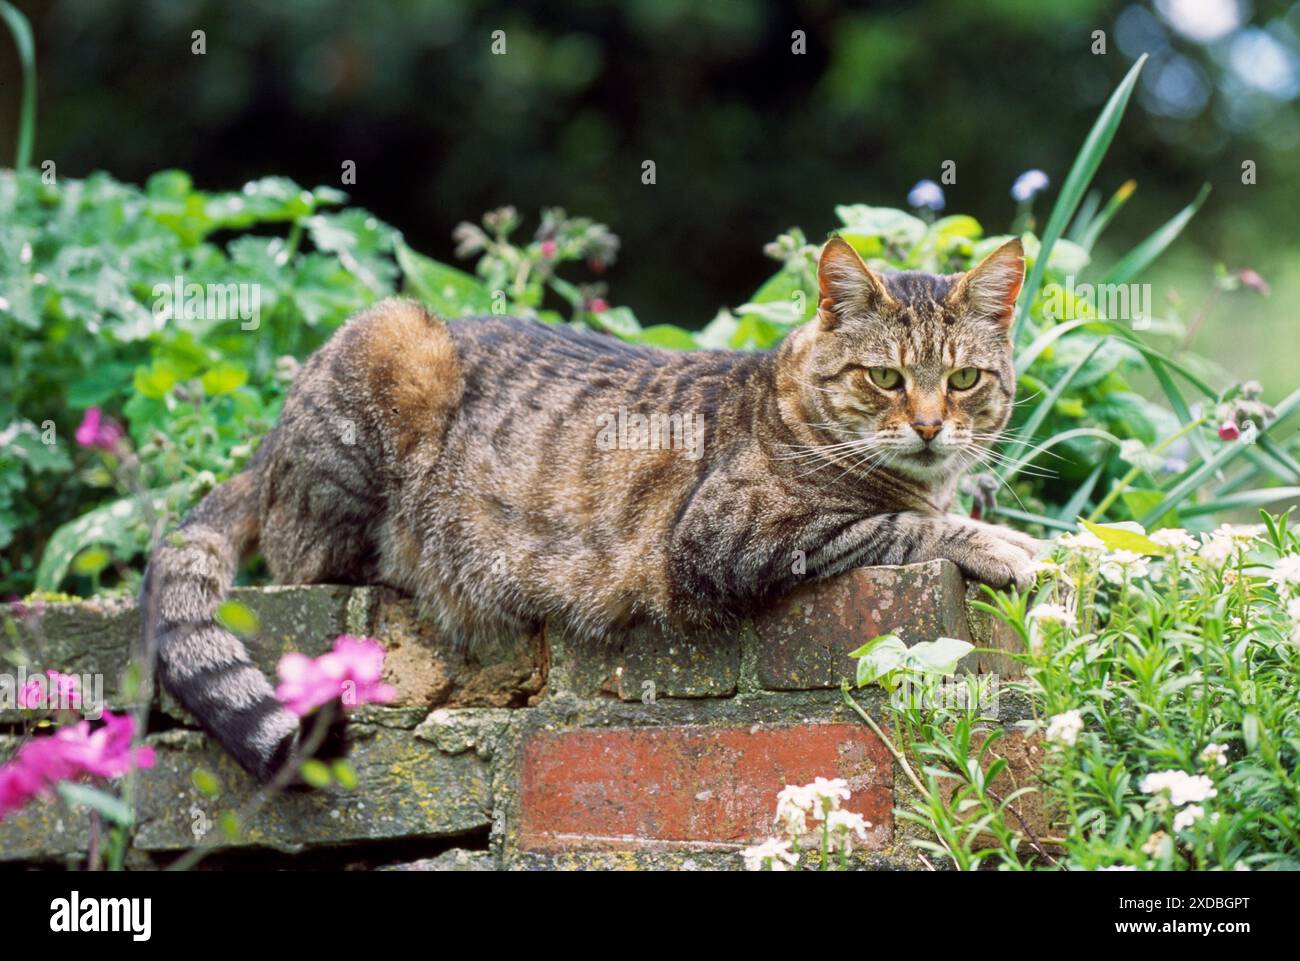
[[[905,642],[970,640],[966,584],[948,560],[859,567],[807,584],[754,619],[758,680],[772,691],[837,688],[849,652],[883,633]]]

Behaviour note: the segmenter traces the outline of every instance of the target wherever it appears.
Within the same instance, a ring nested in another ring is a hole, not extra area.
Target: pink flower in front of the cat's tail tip
[[[334,700],[342,701],[344,707],[387,704],[396,697],[396,691],[380,680],[382,675],[384,648],[378,641],[339,635],[334,649],[316,659],[285,654],[280,659],[276,697],[299,717]]]

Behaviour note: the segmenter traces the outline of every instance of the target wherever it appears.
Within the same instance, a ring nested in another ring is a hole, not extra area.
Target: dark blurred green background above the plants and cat
[[[1209,182],[1148,280],[1157,313],[1277,398],[1295,386],[1300,251],[1300,4],[1247,0],[61,0],[17,4],[38,43],[35,157],[62,176],[207,189],[264,174],[341,186],[417,250],[512,203],[558,204],[623,238],[603,280],[646,324],[698,328],[771,273],[762,246],[819,237],[836,203],[904,207],[922,178],[946,211],[1010,226],[1013,179],[1052,178],[1048,209],[1106,95],[1152,61],[1096,185],[1138,194],[1106,237],[1126,251]],[[194,30],[207,52],[191,52]],[[506,55],[491,35],[506,33]],[[806,34],[806,53],[792,34]],[[1095,31],[1106,52],[1093,53]],[[18,72],[0,43],[0,157]],[[641,182],[654,160],[658,182]],[[1242,183],[1242,164],[1257,183]],[[536,221],[532,221],[536,222]],[[1214,299],[1214,267],[1269,298]]]

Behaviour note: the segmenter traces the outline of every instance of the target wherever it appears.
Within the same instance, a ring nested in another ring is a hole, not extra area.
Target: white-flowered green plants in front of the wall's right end
[[[1006,731],[987,701],[896,700],[922,766],[900,811],[927,830],[919,847],[961,869],[1300,866],[1300,536],[1262,516],[1200,542],[1165,529],[1145,553],[1067,534],[1032,602],[989,592],[978,606],[1022,641],[1024,680],[1004,693],[1028,700],[1024,733],[1046,762],[1039,784],[1001,796]],[[1020,818],[1031,791],[1060,836]]]

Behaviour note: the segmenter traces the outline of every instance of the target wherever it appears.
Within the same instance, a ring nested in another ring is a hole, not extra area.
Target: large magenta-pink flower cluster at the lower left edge
[[[133,748],[134,736],[135,718],[104,711],[104,723],[95,731],[82,720],[52,737],[27,741],[0,767],[0,818],[61,780],[118,778],[133,769],[152,767],[153,748]]]

